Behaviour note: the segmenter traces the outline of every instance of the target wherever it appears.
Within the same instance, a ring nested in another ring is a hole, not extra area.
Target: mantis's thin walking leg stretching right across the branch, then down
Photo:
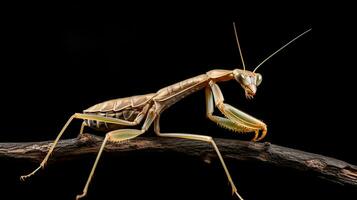
[[[232,194],[236,195],[240,200],[243,200],[243,198],[239,195],[237,188],[232,180],[232,177],[228,171],[228,168],[224,162],[224,159],[221,155],[221,152],[219,151],[216,143],[214,142],[213,138],[210,136],[205,136],[205,135],[197,135],[197,134],[187,134],[187,133],[161,133],[160,132],[160,115],[158,115],[155,119],[155,127],[154,127],[155,133],[160,136],[160,137],[173,137],[173,138],[184,138],[184,139],[189,139],[189,140],[198,140],[198,141],[203,141],[203,142],[208,142],[210,143],[214,150],[216,151],[218,158],[222,164],[222,167],[226,173],[226,176],[228,178],[228,181],[232,187]]]

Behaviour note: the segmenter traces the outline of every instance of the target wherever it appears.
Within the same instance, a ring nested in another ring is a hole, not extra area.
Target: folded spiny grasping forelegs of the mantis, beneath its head
[[[213,115],[214,104],[226,118]],[[236,132],[255,132],[253,141],[259,141],[265,137],[267,132],[266,125],[262,121],[224,103],[221,90],[212,81],[210,82],[210,88],[206,88],[206,106],[207,117],[218,125]],[[260,137],[258,137],[259,130],[262,130]]]

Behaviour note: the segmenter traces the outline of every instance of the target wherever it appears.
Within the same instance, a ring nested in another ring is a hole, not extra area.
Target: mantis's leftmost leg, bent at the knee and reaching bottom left
[[[72,115],[68,121],[66,122],[66,124],[63,126],[62,130],[60,131],[60,133],[57,135],[55,141],[53,142],[53,144],[51,145],[50,150],[48,151],[46,157],[43,159],[43,161],[41,162],[40,166],[37,167],[33,172],[21,176],[20,179],[21,180],[25,180],[26,178],[34,175],[38,170],[40,170],[41,168],[44,168],[48,158],[50,157],[51,153],[53,152],[54,148],[56,147],[59,139],[61,138],[61,136],[63,135],[63,133],[65,132],[65,130],[67,129],[67,127],[69,126],[69,124],[73,121],[73,119],[87,119],[87,120],[97,120],[97,121],[101,121],[101,122],[106,122],[106,123],[114,123],[114,124],[121,124],[121,125],[127,125],[127,126],[133,126],[136,125],[137,122],[130,122],[130,121],[125,121],[125,120],[120,120],[120,119],[115,119],[115,118],[109,118],[109,117],[103,117],[103,116],[99,116],[99,115],[89,115],[89,114],[81,114],[81,113],[76,113],[74,115]],[[80,134],[83,132],[83,128],[84,128],[84,124],[82,124],[81,126],[81,130],[80,130]]]

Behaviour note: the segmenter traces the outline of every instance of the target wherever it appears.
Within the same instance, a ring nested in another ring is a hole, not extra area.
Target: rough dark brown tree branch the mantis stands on
[[[55,148],[50,162],[75,159],[83,154],[97,153],[102,141],[103,138],[90,134],[83,134],[75,139],[62,140]],[[228,139],[215,139],[215,141],[223,156],[229,160],[251,160],[310,171],[320,178],[357,187],[357,166],[341,160],[270,143]],[[28,159],[40,162],[48,152],[51,142],[0,143],[0,158]],[[209,144],[185,139],[139,137],[122,144],[108,143],[105,148],[106,152],[137,150],[174,151],[192,156],[216,157]]]

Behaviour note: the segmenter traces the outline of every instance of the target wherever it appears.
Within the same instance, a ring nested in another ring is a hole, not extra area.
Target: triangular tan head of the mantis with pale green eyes
[[[233,70],[233,76],[244,89],[247,99],[252,99],[254,97],[257,92],[257,87],[263,80],[261,74],[241,69]]]

